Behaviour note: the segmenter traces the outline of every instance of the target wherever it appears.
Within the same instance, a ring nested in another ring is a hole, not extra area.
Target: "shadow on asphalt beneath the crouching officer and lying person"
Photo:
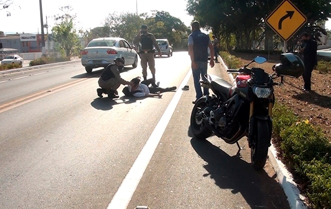
[[[118,99],[110,99],[107,96],[103,96],[103,98],[96,98],[91,102],[91,106],[95,109],[99,110],[110,110],[116,104],[132,104],[136,103],[139,100],[146,99],[146,97],[126,97],[122,96]],[[155,98],[155,99],[162,99],[162,98]]]

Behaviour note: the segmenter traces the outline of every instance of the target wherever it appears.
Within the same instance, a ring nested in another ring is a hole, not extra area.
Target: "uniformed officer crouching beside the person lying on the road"
[[[98,84],[101,89],[97,89],[96,92],[100,98],[102,94],[108,94],[109,98],[118,98],[118,87],[122,85],[134,85],[133,82],[125,81],[121,78],[119,70],[123,69],[124,60],[122,58],[116,58],[113,64],[108,65],[102,72]]]

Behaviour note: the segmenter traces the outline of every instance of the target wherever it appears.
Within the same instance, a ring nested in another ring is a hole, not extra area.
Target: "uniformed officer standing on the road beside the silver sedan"
[[[147,79],[147,63],[149,69],[151,70],[153,80],[155,82],[155,60],[154,60],[154,50],[153,45],[157,49],[159,56],[161,57],[161,50],[157,44],[155,37],[152,33],[147,32],[147,25],[141,26],[141,32],[133,39],[133,43],[136,44],[140,41],[141,50],[140,50],[140,64],[142,67],[142,76],[144,80]]]

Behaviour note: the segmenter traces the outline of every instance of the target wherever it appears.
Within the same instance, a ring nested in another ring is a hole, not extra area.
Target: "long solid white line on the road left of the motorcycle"
[[[148,138],[145,146],[140,151],[138,157],[130,168],[129,172],[125,176],[122,184],[118,188],[113,199],[109,203],[107,209],[126,209],[128,206],[134,191],[136,190],[141,177],[143,176],[149,161],[151,160],[157,145],[170,121],[170,118],[175,111],[177,104],[183,94],[181,90],[189,81],[192,75],[192,71],[189,70],[186,77],[182,81],[181,85],[177,89],[174,97],[172,98],[167,109],[164,111],[160,121],[155,126],[152,134]]]

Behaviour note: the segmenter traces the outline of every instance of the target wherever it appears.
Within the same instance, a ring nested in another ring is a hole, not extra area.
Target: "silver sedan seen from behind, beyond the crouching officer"
[[[107,67],[116,58],[122,58],[124,66],[137,67],[138,54],[124,38],[95,38],[80,52],[81,64],[87,73],[93,68]]]

